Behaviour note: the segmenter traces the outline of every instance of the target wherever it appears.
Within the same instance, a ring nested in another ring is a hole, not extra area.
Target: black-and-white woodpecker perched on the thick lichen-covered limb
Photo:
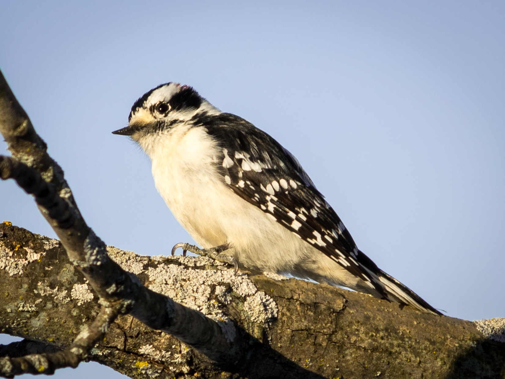
[[[310,279],[441,313],[358,249],[298,160],[191,86],[161,84],[132,106],[129,136],[151,161],[158,192],[199,248],[222,262]]]

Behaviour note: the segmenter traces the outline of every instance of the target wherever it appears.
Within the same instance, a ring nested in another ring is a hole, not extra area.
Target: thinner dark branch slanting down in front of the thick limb
[[[102,299],[105,307],[103,314],[114,319],[119,313],[129,313],[153,328],[177,336],[214,360],[227,360],[237,353],[216,321],[146,289],[109,259],[105,244],[82,218],[64,179],[63,170],[47,155],[45,143],[36,134],[1,72],[0,131],[13,154],[12,158],[0,157],[2,179],[15,179],[19,186],[35,197],[40,212],[60,237],[70,261],[82,271]],[[99,323],[91,326],[97,327],[100,328]],[[98,329],[90,329],[88,333],[96,337],[100,332]],[[87,344],[93,342],[82,336],[79,341]],[[91,347],[92,345],[83,347],[82,351]],[[62,356],[67,352],[57,354]],[[78,359],[84,356],[85,354]],[[41,355],[26,357],[24,361],[23,358],[13,361],[4,359],[0,361],[0,367],[7,376],[34,372],[35,369],[42,372],[43,365],[51,365],[51,362],[46,362],[46,358]],[[39,360],[43,360],[43,363]],[[65,360],[67,361],[70,362]],[[16,366],[15,362],[19,365]],[[62,364],[66,363],[58,361],[58,365]],[[69,364],[73,366],[76,363],[72,361]],[[11,368],[13,365],[17,368]]]

